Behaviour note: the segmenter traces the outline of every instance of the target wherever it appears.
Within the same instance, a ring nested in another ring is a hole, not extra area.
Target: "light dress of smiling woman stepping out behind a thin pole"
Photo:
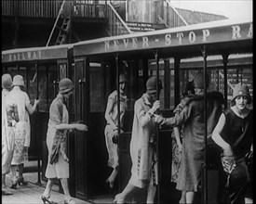
[[[110,112],[112,120],[117,126],[117,91],[114,91],[108,97],[108,103],[112,100],[114,107]],[[120,128],[124,126],[124,115],[128,108],[128,99],[127,96],[120,95]],[[113,143],[114,129],[110,124],[107,124],[105,127],[105,142],[108,150],[108,166],[116,168],[119,165],[118,154],[117,154],[117,144]]]

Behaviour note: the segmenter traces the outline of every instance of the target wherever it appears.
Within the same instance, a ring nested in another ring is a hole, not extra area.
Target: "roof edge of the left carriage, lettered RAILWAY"
[[[6,50],[2,51],[2,63],[67,58],[68,50],[72,47],[73,45],[54,45]]]

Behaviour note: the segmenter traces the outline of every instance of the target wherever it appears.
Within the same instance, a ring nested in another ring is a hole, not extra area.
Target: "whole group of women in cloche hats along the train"
[[[128,108],[126,95],[128,78],[125,74],[121,74],[118,79],[119,90],[108,96],[105,110],[105,144],[109,155],[108,165],[113,169],[106,179],[110,188],[114,187],[119,172],[118,137],[124,133],[124,115]],[[208,74],[196,73],[193,82],[187,84],[181,103],[173,111],[173,117],[164,118],[159,113],[162,83],[155,76],[148,79],[146,92],[134,104],[130,140],[131,176],[128,185],[115,196],[115,203],[126,203],[136,189],[146,189],[146,203],[155,203],[158,185],[156,137],[161,127],[173,128],[172,137],[175,144],[172,146],[170,173],[171,182],[176,183],[176,188],[182,192],[180,203],[195,203],[197,192],[202,190],[205,140],[209,138],[222,148],[222,154],[216,157],[222,159],[220,172],[222,172],[221,179],[225,182],[219,188],[222,195],[225,195],[225,200],[220,197],[219,203],[236,204],[245,203],[246,199],[252,200],[251,186],[249,186],[252,180],[249,164],[253,153],[252,109],[248,108],[251,103],[249,88],[246,84],[237,83],[233,89],[233,106],[224,109],[221,93],[205,92],[209,83]],[[21,75],[14,76],[13,81],[9,74],[2,76],[3,195],[12,194],[6,184],[6,174],[10,170],[11,188],[16,189],[17,185],[28,184],[22,174],[30,147],[29,115],[34,113],[39,100],[34,100],[34,105],[31,105],[29,96],[22,91],[24,86]],[[74,130],[88,131],[88,126],[69,122],[67,100],[73,94],[73,89],[74,84],[70,79],[62,79],[59,83],[59,94],[49,108],[47,186],[41,197],[44,203],[56,203],[50,198],[54,178],[61,180],[64,203],[74,203],[68,188],[69,159],[66,155],[66,135]],[[205,93],[207,93],[206,104]],[[205,135],[205,121],[207,121],[207,135]]]

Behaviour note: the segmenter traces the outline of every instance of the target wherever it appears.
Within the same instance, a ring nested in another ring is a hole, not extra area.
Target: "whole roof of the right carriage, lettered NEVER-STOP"
[[[201,46],[207,45],[207,55],[251,53],[252,21],[219,20],[191,26],[141,32],[89,40],[74,44],[74,57],[90,56],[153,58],[201,56]],[[198,45],[198,46],[196,46]],[[92,57],[92,58],[93,58]]]

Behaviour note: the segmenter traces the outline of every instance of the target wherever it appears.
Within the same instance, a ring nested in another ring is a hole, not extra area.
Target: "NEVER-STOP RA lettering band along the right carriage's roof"
[[[220,31],[220,29],[216,31]],[[163,33],[120,40],[109,40],[104,42],[104,50],[107,52],[157,46],[205,44],[218,42],[218,38],[222,39],[222,36],[227,38],[225,39],[227,41],[252,38],[253,36],[252,23],[249,23],[249,27],[247,29],[243,28],[243,30],[240,25],[233,25],[230,26],[230,28],[223,27],[223,31],[221,30],[220,33],[217,32],[216,34],[216,31],[214,31],[214,29],[202,29],[199,31]],[[211,32],[213,32],[212,35]]]

